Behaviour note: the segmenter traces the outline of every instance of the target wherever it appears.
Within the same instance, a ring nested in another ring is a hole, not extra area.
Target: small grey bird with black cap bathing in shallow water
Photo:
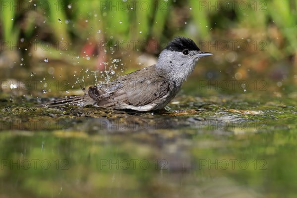
[[[156,64],[121,76],[112,82],[92,86],[84,95],[56,99],[42,105],[54,107],[91,104],[137,111],[161,109],[179,92],[199,58],[208,55],[212,53],[200,51],[193,40],[177,37],[160,53]]]

